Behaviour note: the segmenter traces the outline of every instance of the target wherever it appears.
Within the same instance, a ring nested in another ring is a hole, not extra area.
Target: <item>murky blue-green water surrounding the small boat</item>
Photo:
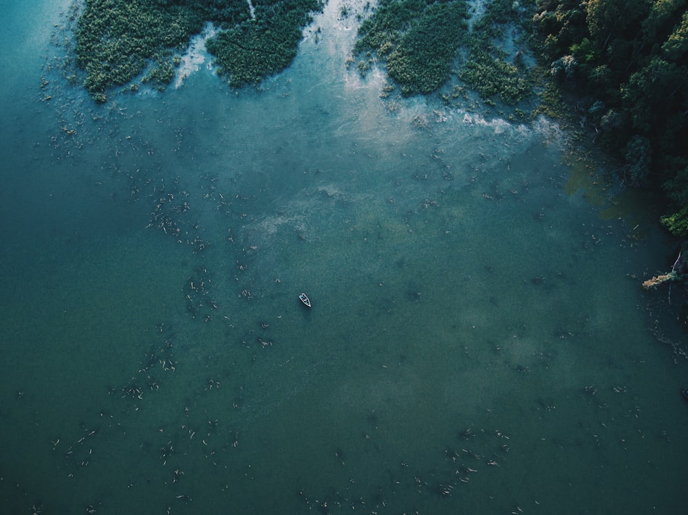
[[[2,511],[683,513],[654,218],[551,122],[381,99],[339,10],[259,91],[96,107],[4,7]]]

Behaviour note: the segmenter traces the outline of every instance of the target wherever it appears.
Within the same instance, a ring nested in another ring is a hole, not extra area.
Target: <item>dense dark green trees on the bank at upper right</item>
[[[662,187],[663,223],[688,235],[686,0],[538,0],[533,43],[559,88],[577,94],[624,179]]]

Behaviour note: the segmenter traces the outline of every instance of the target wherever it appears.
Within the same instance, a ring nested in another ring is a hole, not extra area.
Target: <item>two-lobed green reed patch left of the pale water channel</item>
[[[208,51],[230,85],[257,83],[291,63],[301,28],[320,8],[319,0],[86,0],[76,25],[76,61],[98,102],[107,100],[108,89],[138,77],[163,89],[179,63],[175,51],[209,21],[221,30]]]

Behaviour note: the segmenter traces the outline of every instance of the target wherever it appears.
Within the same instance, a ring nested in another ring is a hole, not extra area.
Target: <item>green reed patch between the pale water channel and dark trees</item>
[[[464,0],[381,0],[358,29],[354,54],[367,57],[358,69],[365,74],[375,52],[402,94],[431,93],[455,74],[488,103],[516,104],[530,74],[522,52],[508,55],[500,43],[513,39],[524,12],[518,1],[494,0],[469,30]]]

